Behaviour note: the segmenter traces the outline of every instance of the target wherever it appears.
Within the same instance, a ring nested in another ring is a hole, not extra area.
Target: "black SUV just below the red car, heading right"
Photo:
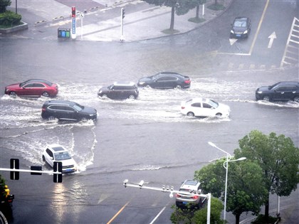
[[[68,100],[47,100],[41,108],[41,117],[80,122],[97,119],[97,110]]]

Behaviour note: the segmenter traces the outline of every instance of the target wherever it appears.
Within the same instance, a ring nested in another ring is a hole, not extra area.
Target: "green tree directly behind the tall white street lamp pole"
[[[214,164],[204,166],[195,171],[194,178],[201,181],[205,192],[211,192],[213,196],[221,197],[224,201],[226,159],[219,159]],[[236,216],[239,223],[240,215],[251,211],[258,214],[265,197],[266,188],[260,183],[263,181],[263,171],[258,164],[252,161],[237,161],[229,163],[229,175],[226,192],[226,210]]]

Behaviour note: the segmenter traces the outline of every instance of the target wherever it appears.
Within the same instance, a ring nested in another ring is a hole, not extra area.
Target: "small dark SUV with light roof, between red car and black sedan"
[[[100,88],[99,97],[108,97],[110,99],[136,99],[139,90],[134,82],[114,82],[113,85]]]

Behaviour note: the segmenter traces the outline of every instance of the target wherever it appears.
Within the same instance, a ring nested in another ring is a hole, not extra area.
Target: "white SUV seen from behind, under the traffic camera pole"
[[[184,192],[188,193],[201,193],[200,182],[193,180],[186,180],[182,183],[182,186],[179,188],[179,191],[182,193],[177,193],[176,205],[178,207],[187,206],[187,204],[192,204],[192,206],[196,206],[200,208],[202,203],[204,203],[203,198],[199,196],[191,196],[189,194],[184,194]]]

